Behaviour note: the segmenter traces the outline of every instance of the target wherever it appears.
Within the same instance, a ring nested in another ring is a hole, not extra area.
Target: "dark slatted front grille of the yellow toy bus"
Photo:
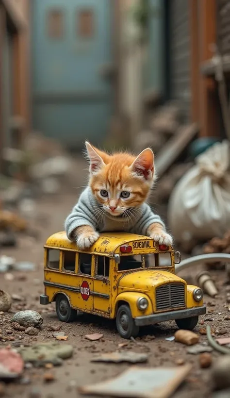
[[[185,306],[184,284],[167,283],[156,289],[157,311],[173,310]]]

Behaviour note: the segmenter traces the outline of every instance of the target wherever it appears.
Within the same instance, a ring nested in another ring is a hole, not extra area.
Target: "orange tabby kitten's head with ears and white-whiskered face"
[[[127,152],[108,155],[86,144],[90,160],[89,185],[103,210],[113,216],[129,215],[140,206],[154,182],[154,155],[145,149],[137,157]]]

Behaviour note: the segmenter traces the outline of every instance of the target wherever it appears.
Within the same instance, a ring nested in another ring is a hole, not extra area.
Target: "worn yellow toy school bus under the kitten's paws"
[[[127,339],[137,336],[140,326],[172,319],[192,330],[206,313],[203,292],[175,275],[175,258],[180,262],[179,252],[147,236],[106,232],[79,250],[58,232],[45,245],[40,303],[55,301],[63,322],[73,321],[78,310],[116,318]]]

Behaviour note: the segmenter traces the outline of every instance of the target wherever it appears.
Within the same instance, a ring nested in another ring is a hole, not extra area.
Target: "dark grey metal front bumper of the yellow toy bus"
[[[205,305],[203,305],[202,307],[193,307],[178,311],[168,311],[161,314],[137,316],[136,318],[134,318],[134,322],[136,326],[146,326],[146,325],[154,325],[160,322],[171,321],[174,319],[190,318],[193,316],[204,315],[204,314],[206,314]]]

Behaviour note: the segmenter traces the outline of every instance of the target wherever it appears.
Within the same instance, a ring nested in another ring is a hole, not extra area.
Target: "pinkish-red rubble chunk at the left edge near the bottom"
[[[13,349],[0,349],[0,380],[19,377],[23,368],[24,362],[20,354]]]

